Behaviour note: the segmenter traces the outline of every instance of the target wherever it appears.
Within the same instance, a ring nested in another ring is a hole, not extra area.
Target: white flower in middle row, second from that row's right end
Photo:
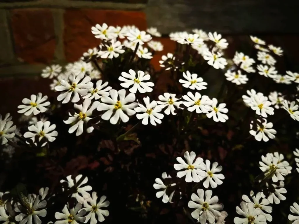
[[[187,95],[183,96],[183,99],[186,100],[183,104],[190,112],[196,111],[196,113],[208,113],[208,111],[212,108],[211,105],[213,101],[208,96],[202,96],[198,92],[196,92],[195,95],[188,92]]]

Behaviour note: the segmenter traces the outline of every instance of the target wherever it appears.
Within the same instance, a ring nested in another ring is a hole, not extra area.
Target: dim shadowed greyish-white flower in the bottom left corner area
[[[34,195],[28,195],[27,198],[28,208],[24,208],[19,202],[15,205],[15,211],[21,212],[15,217],[15,220],[17,222],[20,222],[20,224],[32,224],[32,217],[35,224],[41,224],[42,221],[40,220],[40,217],[46,217],[47,210],[40,208],[45,208],[47,205],[47,202],[45,200],[40,201],[40,197],[35,197]]]

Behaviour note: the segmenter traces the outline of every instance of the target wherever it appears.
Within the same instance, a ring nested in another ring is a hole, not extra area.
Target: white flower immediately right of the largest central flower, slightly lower
[[[142,119],[142,124],[147,125],[148,119],[150,119],[150,123],[152,125],[161,124],[161,119],[164,117],[162,113],[159,113],[162,111],[161,107],[157,105],[157,102],[153,100],[151,103],[149,102],[149,97],[143,98],[145,106],[138,103],[138,107],[134,108],[134,110],[138,113],[136,114],[137,119]],[[140,112],[142,112],[140,114]]]

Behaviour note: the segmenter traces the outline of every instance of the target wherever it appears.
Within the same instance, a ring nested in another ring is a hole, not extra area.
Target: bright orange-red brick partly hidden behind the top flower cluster
[[[95,24],[106,23],[108,26],[134,24],[141,30],[147,27],[145,13],[140,11],[69,9],[64,14],[64,47],[66,60],[78,60],[83,52],[99,44],[91,33]]]

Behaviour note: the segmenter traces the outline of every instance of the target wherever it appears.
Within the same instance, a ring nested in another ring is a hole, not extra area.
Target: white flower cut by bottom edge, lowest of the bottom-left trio
[[[74,208],[71,208],[68,211],[68,206],[65,205],[62,209],[62,213],[58,211],[55,212],[55,218],[62,219],[56,221],[55,224],[62,224],[62,223],[77,224],[78,222],[83,223],[86,219],[86,217],[83,217],[83,215],[86,214],[86,210],[81,208],[82,208],[82,204],[77,203],[77,205]],[[80,212],[78,213],[79,210]]]

